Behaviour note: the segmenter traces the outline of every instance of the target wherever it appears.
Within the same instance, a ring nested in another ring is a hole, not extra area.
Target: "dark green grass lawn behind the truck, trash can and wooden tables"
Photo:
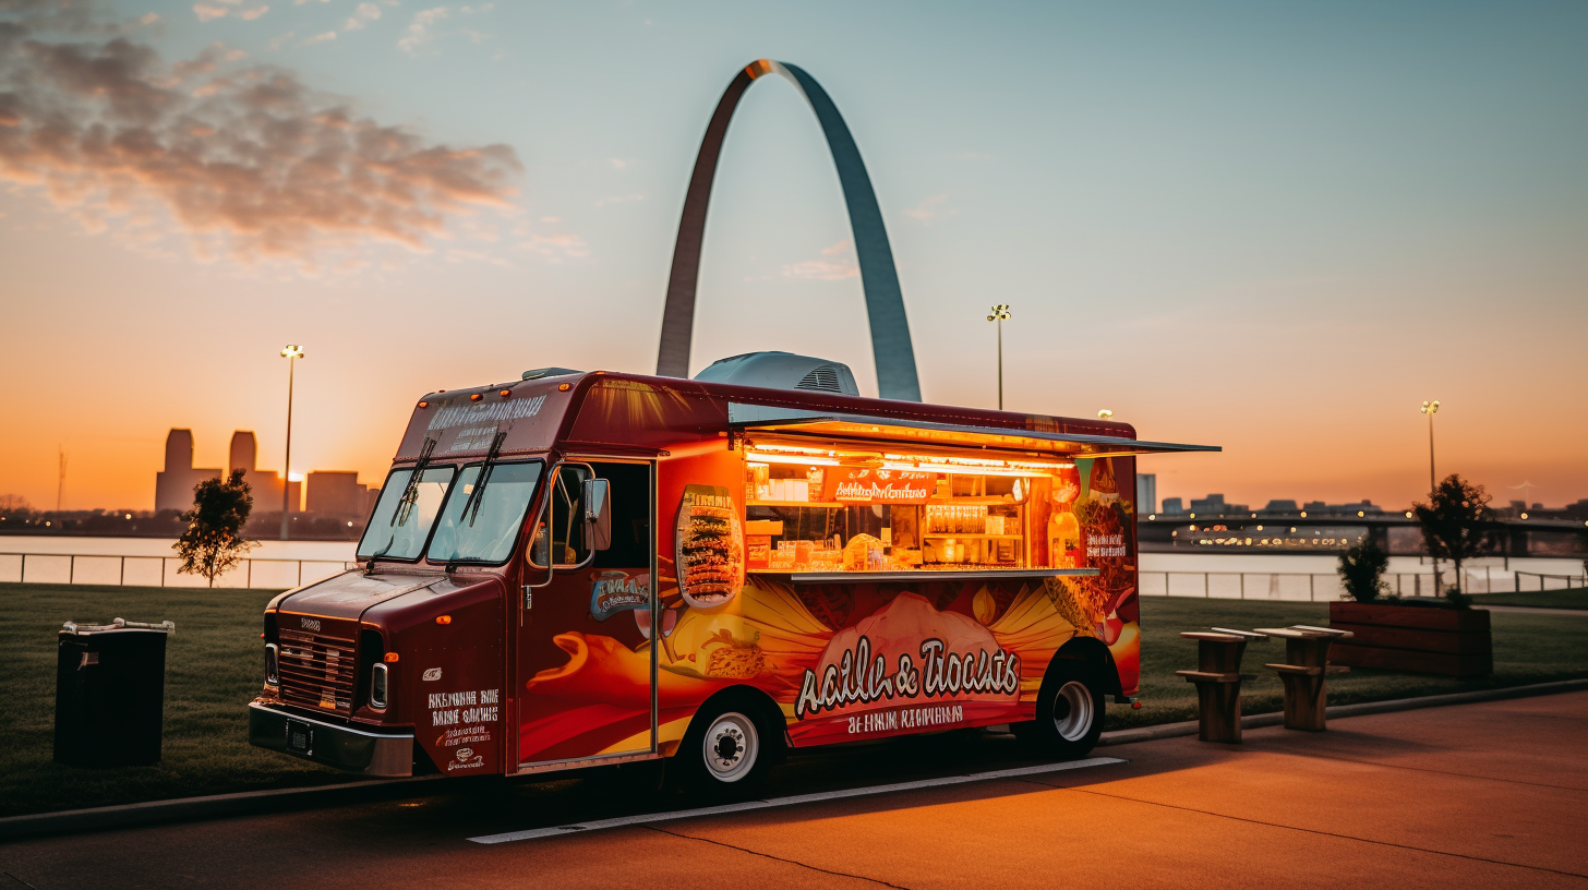
[[[246,702],[259,690],[260,610],[270,591],[0,585],[0,815],[133,801],[345,782],[349,777],[248,744]],[[62,621],[176,621],[167,648],[165,747],[154,766],[84,769],[52,760],[56,631]],[[1196,690],[1177,669],[1196,666],[1180,631],[1328,621],[1326,604],[1143,598],[1140,710],[1108,709],[1110,729],[1196,717]],[[1494,675],[1447,680],[1386,671],[1331,677],[1345,704],[1588,677],[1588,617],[1497,612]],[[1262,663],[1282,644],[1247,648],[1247,714],[1278,710],[1277,675]]]

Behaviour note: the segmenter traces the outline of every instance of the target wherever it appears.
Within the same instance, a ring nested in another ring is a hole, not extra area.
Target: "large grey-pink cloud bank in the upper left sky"
[[[167,64],[129,37],[46,38],[17,6],[0,0],[0,181],[89,226],[154,205],[197,250],[313,262],[370,238],[426,250],[515,194],[507,145],[429,141],[224,46]]]

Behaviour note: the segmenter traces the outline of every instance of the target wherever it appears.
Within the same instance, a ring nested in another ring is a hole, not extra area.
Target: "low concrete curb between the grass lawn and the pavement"
[[[1588,679],[1534,683],[1531,687],[1512,687],[1505,690],[1480,690],[1470,693],[1402,698],[1363,704],[1339,704],[1331,707],[1328,714],[1331,718],[1366,717],[1369,714],[1390,714],[1396,710],[1416,710],[1421,707],[1442,707],[1447,704],[1532,698],[1580,690],[1588,690]],[[1278,726],[1282,723],[1285,723],[1283,714],[1253,714],[1251,717],[1240,718],[1240,726],[1245,729]],[[1139,729],[1116,729],[1113,733],[1104,733],[1097,741],[1097,745],[1129,745],[1156,739],[1175,739],[1181,736],[1196,736],[1196,720],[1188,720],[1185,723],[1164,723],[1159,726],[1142,726]],[[210,795],[203,798],[178,798],[172,801],[146,801],[140,804],[68,809],[35,815],[11,815],[0,818],[0,842],[40,838],[44,834],[75,834],[164,822],[194,822],[203,818],[224,818],[230,815],[259,815],[294,809],[422,798],[430,795],[445,795],[464,784],[470,784],[470,779],[451,776],[421,776],[416,779],[376,779],[368,782],[324,785],[319,788],[238,791],[232,795]]]

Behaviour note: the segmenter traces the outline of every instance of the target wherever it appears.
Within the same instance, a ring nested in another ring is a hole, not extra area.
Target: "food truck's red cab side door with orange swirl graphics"
[[[522,556],[521,772],[656,752],[654,477],[638,461],[564,462],[549,477]]]

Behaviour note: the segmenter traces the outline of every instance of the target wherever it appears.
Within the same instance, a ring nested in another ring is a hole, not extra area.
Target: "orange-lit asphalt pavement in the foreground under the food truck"
[[[659,820],[691,804],[653,771],[481,780],[17,841],[0,888],[1588,887],[1585,742],[1588,693],[1107,747],[1059,771],[946,734],[796,756],[767,790],[805,796],[789,806]],[[907,787],[853,795],[885,784]],[[534,831],[572,823],[597,828]]]

